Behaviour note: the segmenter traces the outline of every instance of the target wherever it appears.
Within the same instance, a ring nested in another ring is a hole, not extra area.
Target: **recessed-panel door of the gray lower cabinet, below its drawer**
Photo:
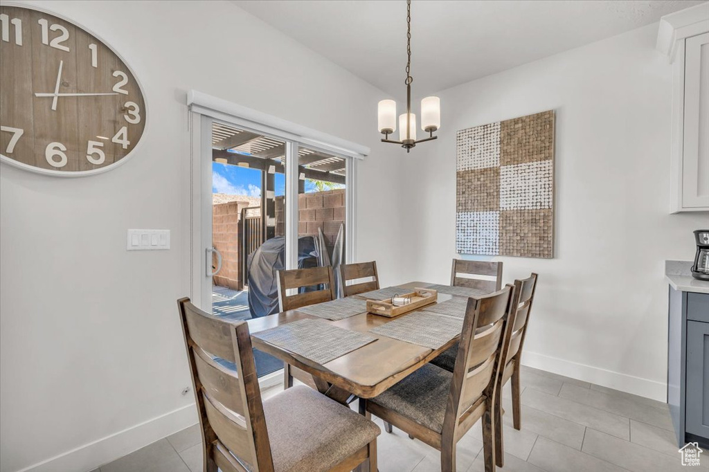
[[[709,437],[709,323],[687,321],[686,432]]]

